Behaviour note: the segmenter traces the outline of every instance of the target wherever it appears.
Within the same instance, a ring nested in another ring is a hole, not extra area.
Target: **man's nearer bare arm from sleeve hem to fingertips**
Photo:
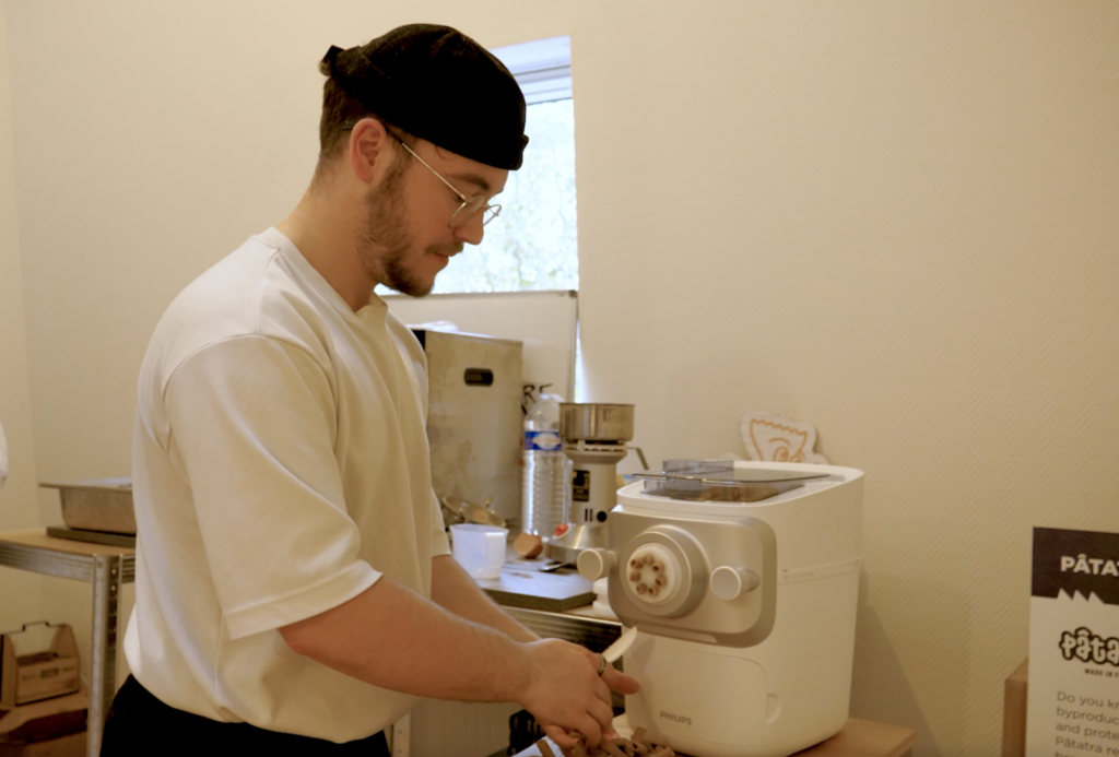
[[[500,611],[498,611],[500,612]],[[297,653],[367,683],[423,697],[511,701],[553,736],[596,744],[613,718],[610,689],[637,682],[558,640],[519,642],[382,576],[354,599],[280,628]]]

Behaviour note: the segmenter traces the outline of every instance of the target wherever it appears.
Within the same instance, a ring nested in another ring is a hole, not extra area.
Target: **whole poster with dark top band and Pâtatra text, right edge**
[[[1034,529],[1028,757],[1119,757],[1119,533]]]

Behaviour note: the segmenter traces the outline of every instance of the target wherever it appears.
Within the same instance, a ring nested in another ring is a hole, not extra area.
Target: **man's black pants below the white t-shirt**
[[[101,757],[389,757],[384,732],[333,744],[265,730],[247,722],[218,722],[168,707],[129,675],[105,719]]]

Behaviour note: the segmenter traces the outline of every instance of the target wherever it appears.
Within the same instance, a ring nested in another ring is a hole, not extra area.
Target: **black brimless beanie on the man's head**
[[[388,123],[480,163],[517,170],[525,96],[486,48],[450,27],[410,23],[322,61],[346,94]]]

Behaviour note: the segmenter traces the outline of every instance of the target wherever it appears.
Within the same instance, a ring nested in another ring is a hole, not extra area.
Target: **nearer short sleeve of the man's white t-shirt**
[[[331,380],[307,350],[248,335],[195,352],[168,382],[169,452],[233,638],[318,615],[380,576],[358,558]]]

